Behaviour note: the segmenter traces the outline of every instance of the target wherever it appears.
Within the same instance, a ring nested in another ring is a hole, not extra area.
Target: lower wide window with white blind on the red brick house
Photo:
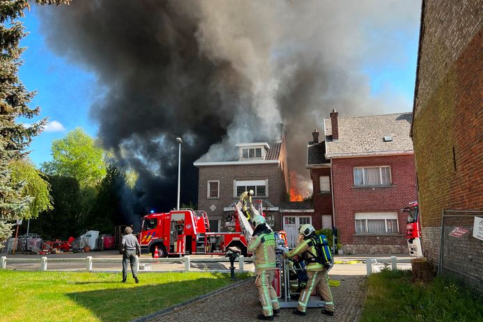
[[[397,212],[356,213],[356,234],[397,234]]]

